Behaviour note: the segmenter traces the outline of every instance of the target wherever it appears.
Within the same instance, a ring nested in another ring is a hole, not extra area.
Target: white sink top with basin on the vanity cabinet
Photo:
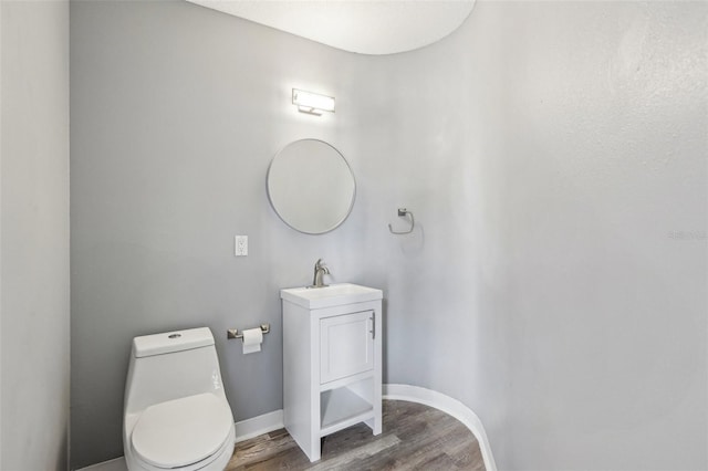
[[[374,287],[352,283],[331,284],[324,287],[291,287],[280,290],[280,297],[309,310],[340,306],[381,300],[384,293]]]

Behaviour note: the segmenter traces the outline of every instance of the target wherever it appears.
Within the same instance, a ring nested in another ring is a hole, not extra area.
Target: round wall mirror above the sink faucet
[[[354,174],[344,156],[322,140],[288,144],[273,157],[267,180],[273,209],[300,232],[336,229],[354,205]]]

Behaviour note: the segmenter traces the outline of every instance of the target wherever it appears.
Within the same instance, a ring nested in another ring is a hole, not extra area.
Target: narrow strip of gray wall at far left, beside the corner
[[[66,469],[69,2],[2,1],[0,469]]]

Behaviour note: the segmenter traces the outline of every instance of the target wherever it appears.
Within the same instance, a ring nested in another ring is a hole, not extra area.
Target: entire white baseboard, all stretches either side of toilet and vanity
[[[426,406],[435,407],[436,409],[439,409],[462,422],[462,425],[465,425],[465,427],[467,427],[477,438],[487,471],[497,471],[497,465],[494,464],[494,459],[491,454],[491,448],[489,447],[489,440],[487,439],[485,427],[482,427],[482,422],[479,420],[479,417],[477,417],[477,415],[462,402],[457,399],[452,399],[449,396],[445,396],[444,394],[417,386],[383,385],[383,389],[384,399],[407,400],[409,402],[424,404]],[[263,414],[262,416],[238,421],[235,423],[235,427],[237,442],[249,440],[253,437],[258,437],[259,435],[268,433],[273,430],[282,429],[284,427],[283,410],[278,409],[272,412]],[[125,459],[121,457],[82,468],[79,471],[126,470]]]

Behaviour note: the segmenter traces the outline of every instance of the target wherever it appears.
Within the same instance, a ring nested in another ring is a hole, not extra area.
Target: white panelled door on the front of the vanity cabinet
[[[374,369],[374,311],[320,321],[320,383]]]

